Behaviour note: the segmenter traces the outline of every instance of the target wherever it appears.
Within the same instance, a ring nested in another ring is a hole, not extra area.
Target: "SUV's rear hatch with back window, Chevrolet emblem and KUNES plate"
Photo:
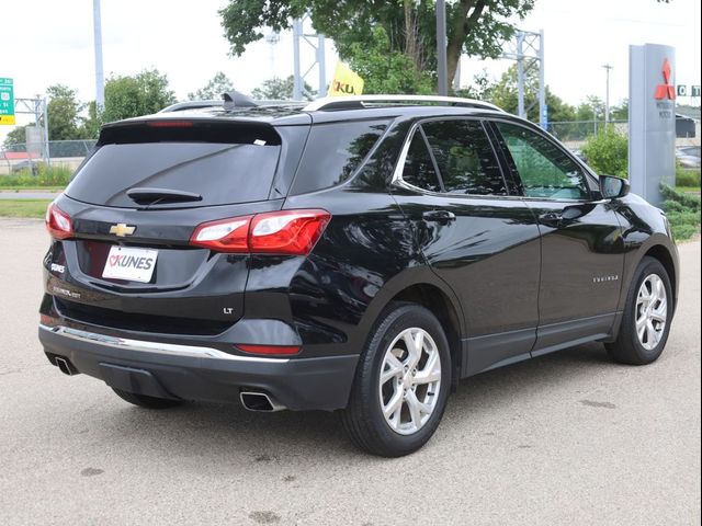
[[[279,210],[276,180],[290,164],[283,157],[299,156],[286,146],[259,122],[170,118],[104,128],[54,204],[70,225],[47,262],[56,309],[128,331],[225,331],[244,312],[249,256],[191,238],[202,224]]]

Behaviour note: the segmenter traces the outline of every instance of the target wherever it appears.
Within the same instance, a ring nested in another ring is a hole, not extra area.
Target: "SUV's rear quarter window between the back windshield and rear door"
[[[381,138],[387,121],[317,124],[293,183],[293,195],[306,194],[347,181]]]

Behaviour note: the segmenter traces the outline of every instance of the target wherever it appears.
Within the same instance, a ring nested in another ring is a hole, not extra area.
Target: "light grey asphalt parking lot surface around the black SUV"
[[[128,405],[36,338],[35,220],[0,219],[0,522],[700,524],[700,242],[661,358],[589,344],[463,381],[421,451],[356,451],[336,414]]]

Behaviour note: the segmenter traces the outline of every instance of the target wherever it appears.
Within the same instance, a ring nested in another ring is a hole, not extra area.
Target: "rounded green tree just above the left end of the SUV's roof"
[[[145,69],[134,77],[107,79],[101,117],[104,123],[138,117],[159,112],[174,102],[176,96],[168,88],[168,77],[156,69]]]

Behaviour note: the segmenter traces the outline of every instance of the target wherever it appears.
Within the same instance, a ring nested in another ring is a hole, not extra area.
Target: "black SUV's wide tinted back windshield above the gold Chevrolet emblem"
[[[231,134],[235,135],[235,134]],[[155,202],[150,206],[192,207],[265,201],[278,160],[278,144],[195,141],[105,144],[81,167],[66,194],[84,203],[135,207],[134,187],[190,192],[200,201]],[[245,140],[249,140],[247,137]]]

